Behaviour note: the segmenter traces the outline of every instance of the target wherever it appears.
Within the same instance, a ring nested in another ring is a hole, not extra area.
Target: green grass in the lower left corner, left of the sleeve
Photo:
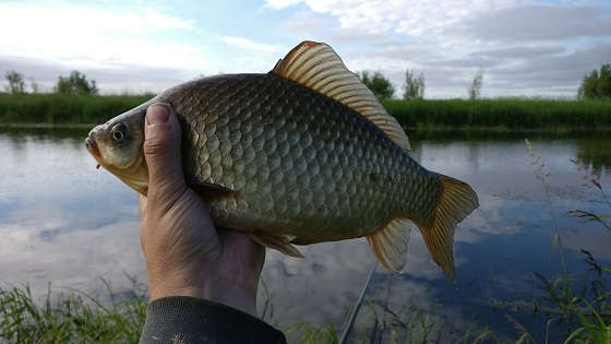
[[[146,318],[142,288],[118,300],[105,284],[108,303],[79,290],[55,295],[49,286],[40,305],[28,286],[0,288],[0,342],[137,343]]]

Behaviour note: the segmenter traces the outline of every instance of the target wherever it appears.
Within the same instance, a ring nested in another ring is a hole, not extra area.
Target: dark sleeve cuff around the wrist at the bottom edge
[[[235,308],[188,296],[146,309],[140,343],[286,343],[283,332]]]

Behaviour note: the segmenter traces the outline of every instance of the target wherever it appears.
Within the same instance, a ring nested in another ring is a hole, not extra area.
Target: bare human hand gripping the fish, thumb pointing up
[[[147,197],[139,194],[141,245],[151,299],[193,296],[256,315],[265,248],[217,232],[206,204],[184,182],[180,123],[170,106],[148,106],[144,124]]]

